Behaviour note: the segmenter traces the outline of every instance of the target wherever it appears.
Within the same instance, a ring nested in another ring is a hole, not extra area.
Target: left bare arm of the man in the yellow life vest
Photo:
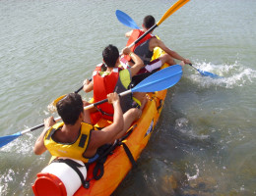
[[[34,146],[33,146],[33,153],[35,155],[41,155],[44,153],[47,149],[44,146],[43,137],[46,133],[46,131],[54,124],[53,117],[50,117],[46,120],[44,120],[44,129],[41,132],[40,136],[36,139]]]

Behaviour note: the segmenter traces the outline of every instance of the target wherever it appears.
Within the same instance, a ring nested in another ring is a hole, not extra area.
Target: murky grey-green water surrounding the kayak
[[[125,46],[130,28],[115,10],[141,25],[148,14],[160,20],[174,2],[0,1],[0,135],[42,123],[52,100],[90,77],[107,44]],[[255,195],[256,1],[191,0],[155,33],[224,78],[184,69],[139,167],[113,195]],[[40,131],[0,149],[1,195],[32,195],[50,157],[32,153]]]

